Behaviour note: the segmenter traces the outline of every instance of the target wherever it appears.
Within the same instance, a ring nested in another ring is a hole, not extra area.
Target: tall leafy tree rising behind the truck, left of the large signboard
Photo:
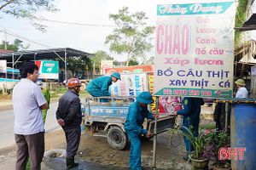
[[[150,36],[154,26],[146,26],[145,20],[148,18],[144,12],[130,14],[128,8],[123,7],[118,14],[109,14],[109,19],[118,27],[106,37],[105,43],[110,43],[111,52],[127,56],[126,65],[132,58],[142,56],[153,47]]]

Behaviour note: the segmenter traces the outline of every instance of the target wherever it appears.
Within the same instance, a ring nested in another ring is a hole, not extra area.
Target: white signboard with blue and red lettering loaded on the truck
[[[121,80],[111,86],[113,96],[137,96],[148,91],[147,73],[121,74]]]

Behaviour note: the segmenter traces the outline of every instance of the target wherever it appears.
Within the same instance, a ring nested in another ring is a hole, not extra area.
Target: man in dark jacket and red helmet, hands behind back
[[[67,169],[78,167],[74,162],[80,143],[82,112],[79,99],[81,82],[77,78],[71,78],[67,82],[68,91],[61,96],[56,111],[57,122],[64,130],[67,141]]]

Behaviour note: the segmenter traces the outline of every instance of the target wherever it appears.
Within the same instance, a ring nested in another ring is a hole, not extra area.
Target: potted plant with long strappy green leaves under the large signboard
[[[204,151],[207,144],[205,134],[201,132],[195,137],[194,133],[188,127],[183,128],[183,135],[189,139],[190,143],[194,147],[194,151],[189,155],[189,159],[191,160],[193,167],[195,167],[195,169],[205,169],[209,162],[209,159],[204,156]]]

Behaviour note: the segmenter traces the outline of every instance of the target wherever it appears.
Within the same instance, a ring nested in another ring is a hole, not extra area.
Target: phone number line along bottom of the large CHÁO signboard
[[[165,89],[164,94],[169,95],[188,95],[188,96],[212,96],[210,90],[186,90],[186,89]]]

